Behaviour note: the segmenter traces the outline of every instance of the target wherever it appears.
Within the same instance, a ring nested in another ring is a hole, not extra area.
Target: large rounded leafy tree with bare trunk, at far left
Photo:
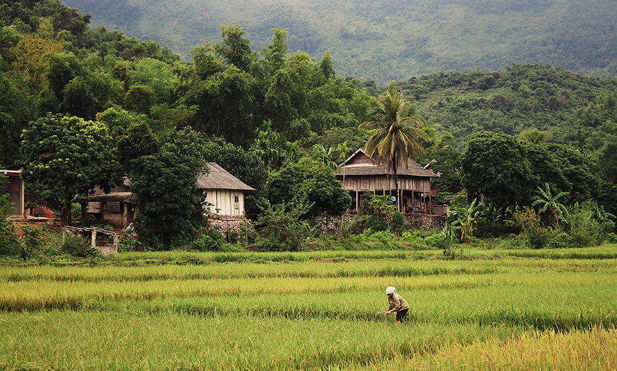
[[[22,177],[61,207],[62,224],[71,221],[71,200],[77,193],[87,193],[96,184],[109,189],[119,180],[104,123],[49,114],[30,122],[21,137]]]

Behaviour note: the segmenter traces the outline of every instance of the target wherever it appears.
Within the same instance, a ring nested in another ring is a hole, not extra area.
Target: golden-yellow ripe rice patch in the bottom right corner
[[[356,369],[359,365],[350,365]],[[524,332],[472,344],[452,344],[434,353],[380,361],[365,370],[616,370],[617,331],[592,328],[570,333]]]

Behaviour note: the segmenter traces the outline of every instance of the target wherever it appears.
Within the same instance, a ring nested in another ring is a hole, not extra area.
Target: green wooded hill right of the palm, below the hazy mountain
[[[587,77],[548,65],[514,64],[489,73],[436,73],[399,84],[424,117],[452,132],[459,149],[481,130],[595,152],[617,139],[617,79]],[[537,133],[536,133],[537,134]]]

